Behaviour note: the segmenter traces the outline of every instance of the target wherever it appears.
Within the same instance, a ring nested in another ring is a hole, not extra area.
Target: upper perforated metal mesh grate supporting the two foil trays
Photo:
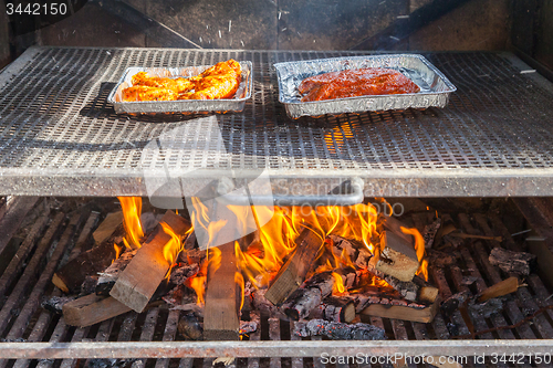
[[[553,86],[521,73],[529,67],[514,56],[425,55],[458,87],[445,109],[288,118],[271,65],[351,54],[358,53],[32,49],[0,75],[0,189],[145,194],[145,172],[200,170],[196,178],[217,179],[267,169],[284,179],[359,176],[369,179],[367,196],[553,194]],[[253,62],[253,98],[242,114],[213,123],[116,115],[106,104],[128,66],[229,57]],[[184,144],[145,149],[163,134]]]

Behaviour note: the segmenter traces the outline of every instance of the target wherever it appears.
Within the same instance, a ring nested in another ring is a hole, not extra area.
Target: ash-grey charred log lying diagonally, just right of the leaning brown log
[[[341,270],[341,274],[334,272],[322,272],[298,288],[288,301],[282,305],[284,313],[294,320],[304,319],[307,317],[314,308],[316,308],[321,302],[331,295],[334,285],[336,284],[336,277],[342,278],[342,287],[347,283],[347,278],[351,274],[355,277],[355,270]]]

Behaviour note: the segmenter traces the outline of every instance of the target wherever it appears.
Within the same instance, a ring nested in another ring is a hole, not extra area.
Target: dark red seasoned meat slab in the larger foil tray
[[[324,73],[300,84],[302,102],[346,98],[366,95],[416,93],[420,88],[398,71],[367,67]]]

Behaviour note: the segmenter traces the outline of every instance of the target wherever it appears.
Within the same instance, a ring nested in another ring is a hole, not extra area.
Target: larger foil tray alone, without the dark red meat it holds
[[[436,66],[417,54],[320,59],[276,63],[274,67],[279,77],[279,101],[285,105],[286,113],[292,118],[324,114],[405,109],[408,107],[445,107],[449,101],[449,94],[457,91],[456,86]],[[418,93],[397,95],[371,95],[301,102],[298,87],[304,78],[322,73],[361,67],[397,70],[415,82],[420,87],[420,91]]]

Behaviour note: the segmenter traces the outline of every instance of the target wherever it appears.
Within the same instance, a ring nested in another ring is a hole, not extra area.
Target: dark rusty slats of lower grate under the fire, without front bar
[[[181,340],[177,334],[179,320],[178,311],[169,311],[165,305],[155,306],[143,314],[134,312],[121,315],[91,327],[75,328],[65,325],[63,317],[44,311],[40,302],[45,296],[61,295],[50,280],[56,266],[71,254],[77,253],[87,245],[90,236],[103,213],[91,211],[91,200],[73,206],[58,206],[51,199],[40,199],[35,207],[29,210],[27,224],[15,232],[12,242],[21,238],[21,245],[13,252],[7,246],[0,263],[0,338],[2,341],[24,343],[80,343],[80,341],[175,341]],[[55,204],[55,206],[54,206]],[[6,204],[4,204],[6,206]],[[55,209],[58,207],[58,209]],[[17,211],[8,211],[1,221],[6,221]],[[105,213],[104,213],[105,214]],[[413,215],[417,228],[424,227],[432,214],[420,212]],[[29,223],[29,219],[32,222]],[[510,235],[505,224],[497,215],[489,217],[476,213],[472,217],[460,213],[455,219],[463,232],[487,236],[503,236],[503,246],[520,250],[521,245]],[[422,229],[419,229],[422,230]],[[490,250],[498,246],[493,240],[468,239],[459,248],[460,260],[457,265],[438,269],[432,267],[430,278],[439,286],[440,294],[447,298],[451,294],[468,291],[477,294],[508,275],[488,262]],[[9,257],[8,257],[9,255]],[[466,276],[477,277],[470,286]],[[438,313],[431,324],[411,323],[399,319],[371,317],[371,323],[386,330],[388,340],[451,340],[457,346],[471,339],[457,339],[456,335],[470,335],[493,327],[514,325],[532,315],[543,306],[553,304],[549,298],[551,292],[535,273],[525,278],[526,286],[508,297],[501,314],[489,318],[481,316],[468,317],[459,311],[450,317]],[[553,311],[546,309],[531,323],[524,323],[515,328],[498,329],[479,335],[476,339],[501,340],[543,340],[553,338]],[[301,340],[292,334],[293,323],[262,316],[260,330],[252,333],[246,340]],[[316,339],[316,338],[312,338]],[[347,341],[346,341],[347,343]],[[215,344],[215,343],[213,343]],[[221,344],[221,343],[219,343]],[[491,343],[490,343],[491,344]],[[532,344],[532,343],[529,343]],[[0,344],[1,348],[1,344]],[[74,359],[59,360],[0,360],[0,368],[11,367],[108,367],[132,365],[133,367],[210,367],[211,358],[186,359],[144,359],[144,360],[109,360],[111,356],[98,356],[97,359],[77,359],[79,348],[75,348]],[[84,350],[83,350],[84,351]],[[81,351],[82,353],[82,351]],[[421,351],[426,353],[426,351]],[[1,353],[0,353],[1,355]],[[286,350],[282,350],[282,356]],[[83,355],[81,355],[83,356]],[[147,356],[152,356],[148,353]],[[293,355],[292,355],[293,356]],[[322,367],[319,358],[239,358],[238,367]],[[347,365],[345,365],[347,366]],[[344,366],[344,367],[345,367]],[[351,365],[356,367],[356,365]],[[376,365],[378,366],[378,365]],[[425,366],[425,365],[421,365]],[[429,365],[427,365],[430,367]],[[342,367],[342,366],[341,366]]]

